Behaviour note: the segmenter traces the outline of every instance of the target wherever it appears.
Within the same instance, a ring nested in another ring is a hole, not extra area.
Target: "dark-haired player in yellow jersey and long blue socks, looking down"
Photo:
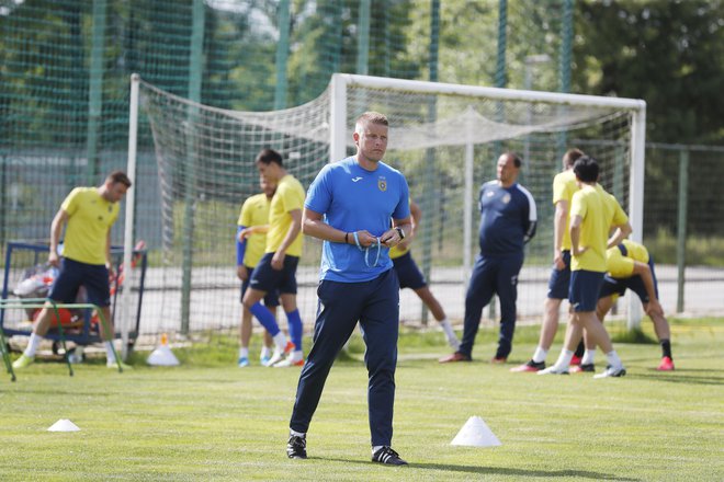
[[[264,255],[251,273],[244,306],[269,331],[276,345],[269,366],[304,365],[302,352],[303,325],[296,308],[296,266],[302,255],[302,209],[305,192],[302,184],[286,172],[282,156],[273,149],[263,149],[257,156],[259,173],[276,184],[269,207],[269,231]],[[279,290],[282,308],[292,341],[279,329],[276,318],[261,306],[268,292]],[[289,357],[284,358],[285,355]]]

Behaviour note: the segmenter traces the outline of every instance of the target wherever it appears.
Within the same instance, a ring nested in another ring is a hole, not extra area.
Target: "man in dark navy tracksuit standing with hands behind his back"
[[[493,363],[505,363],[516,330],[518,273],[523,265],[523,245],[535,234],[533,196],[518,184],[522,161],[512,152],[498,159],[498,179],[483,184],[480,207],[480,254],[475,260],[465,296],[465,321],[460,348],[440,363],[470,362],[483,308],[493,295],[500,299],[500,336]]]

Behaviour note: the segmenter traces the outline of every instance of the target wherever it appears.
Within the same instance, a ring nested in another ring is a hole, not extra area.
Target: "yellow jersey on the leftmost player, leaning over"
[[[81,263],[105,264],[108,232],[118,217],[118,204],[105,200],[97,187],[76,187],[60,209],[68,214],[63,255]]]

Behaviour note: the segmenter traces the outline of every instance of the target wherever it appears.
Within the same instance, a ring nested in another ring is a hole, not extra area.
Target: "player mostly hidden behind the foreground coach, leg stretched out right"
[[[415,238],[415,233],[420,226],[420,220],[422,219],[422,210],[420,207],[410,199],[410,217],[412,220],[412,229],[405,237],[399,244],[389,250],[389,259],[393,261],[395,266],[395,272],[397,273],[397,279],[399,279],[399,288],[410,288],[415,294],[422,300],[426,307],[430,310],[434,319],[440,323],[440,326],[445,333],[448,338],[448,344],[453,348],[457,349],[460,347],[460,341],[455,336],[455,332],[445,315],[445,311],[440,306],[438,299],[432,295],[428,284],[425,280],[425,276],[420,272],[420,268],[412,260],[412,254],[410,253],[410,243]]]

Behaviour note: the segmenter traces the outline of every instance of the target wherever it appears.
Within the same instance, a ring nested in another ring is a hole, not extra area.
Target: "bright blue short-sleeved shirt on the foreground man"
[[[361,230],[382,236],[389,230],[391,219],[405,219],[410,215],[405,176],[382,161],[376,170],[367,171],[353,157],[325,165],[309,186],[304,206],[324,215],[327,225],[349,232],[350,237],[353,231]],[[372,245],[367,255],[370,264],[376,257],[377,250]],[[384,245],[376,266],[369,267],[364,252],[357,245],[325,241],[319,278],[369,282],[392,267],[389,250]]]

